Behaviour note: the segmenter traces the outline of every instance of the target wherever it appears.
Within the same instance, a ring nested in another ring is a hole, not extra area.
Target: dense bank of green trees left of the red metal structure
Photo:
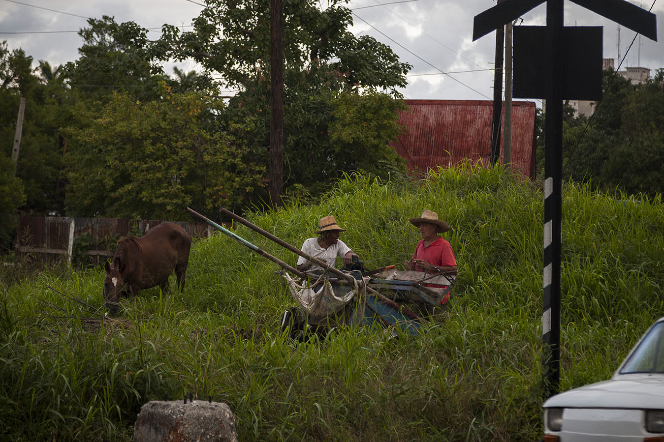
[[[396,89],[410,66],[355,38],[345,1],[286,2],[288,187],[325,191],[356,170],[404,172],[388,143],[400,127]],[[133,22],[89,19],[79,58],[62,66],[0,47],[0,98],[27,106],[16,208],[35,214],[183,218],[185,206],[242,210],[268,183],[270,24],[263,1],[214,0],[189,33],[157,41]],[[194,58],[201,72],[163,64]],[[220,98],[219,86],[236,89]],[[3,114],[11,155],[15,113]],[[352,117],[351,117],[352,115]],[[23,196],[25,195],[25,196]]]

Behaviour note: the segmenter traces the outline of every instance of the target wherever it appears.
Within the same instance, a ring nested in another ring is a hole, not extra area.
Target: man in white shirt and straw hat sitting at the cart
[[[339,234],[345,231],[345,229],[342,229],[337,225],[334,216],[325,216],[319,221],[319,230],[313,232],[318,234],[318,237],[305,240],[302,244],[301,250],[313,258],[325,261],[331,267],[334,267],[337,256],[343,258],[344,265],[351,265],[353,257],[356,259],[359,259],[359,257],[354,254],[353,250],[344,244],[343,241],[339,240]],[[322,270],[319,265],[312,263],[309,259],[304,258],[303,256],[300,256],[299,259],[297,259],[297,269],[299,271],[309,269]]]

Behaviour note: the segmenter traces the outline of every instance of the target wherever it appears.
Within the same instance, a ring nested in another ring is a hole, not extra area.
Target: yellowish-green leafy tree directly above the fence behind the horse
[[[241,138],[205,128],[217,104],[167,86],[159,96],[115,93],[98,109],[77,106],[80,124],[66,130],[68,214],[189,219],[187,206],[232,208],[264,186]]]

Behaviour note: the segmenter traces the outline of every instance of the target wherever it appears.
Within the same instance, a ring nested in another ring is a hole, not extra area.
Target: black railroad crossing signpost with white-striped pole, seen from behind
[[[545,27],[513,29],[513,96],[543,98],[544,271],[542,376],[544,396],[560,380],[560,247],[563,100],[602,98],[602,28],[564,27],[563,0],[505,0],[475,16],[473,41],[546,1]],[[572,0],[657,41],[657,17],[625,0]]]

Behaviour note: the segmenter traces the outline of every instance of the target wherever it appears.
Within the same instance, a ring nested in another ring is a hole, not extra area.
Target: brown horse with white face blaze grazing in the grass
[[[111,315],[118,313],[122,295],[159,285],[168,290],[168,277],[175,270],[180,291],[185,287],[191,236],[172,222],[163,222],[143,238],[129,235],[118,241],[113,261],[106,262],[104,301]]]

